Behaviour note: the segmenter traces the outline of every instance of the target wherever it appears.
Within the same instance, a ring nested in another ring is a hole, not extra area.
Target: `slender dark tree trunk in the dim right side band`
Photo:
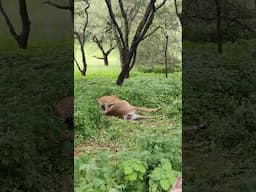
[[[217,21],[216,21],[216,34],[217,34],[217,46],[218,52],[222,54],[222,34],[221,34],[221,7],[220,1],[215,0],[216,4],[216,14],[217,14]]]

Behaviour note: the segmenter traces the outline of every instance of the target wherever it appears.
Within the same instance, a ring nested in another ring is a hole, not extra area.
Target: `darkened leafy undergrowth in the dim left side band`
[[[55,117],[52,107],[73,91],[70,44],[31,43],[28,50],[15,49],[16,44],[0,48],[3,192],[56,191],[65,172],[63,168],[73,166],[65,157],[65,149],[62,152],[63,145],[58,143],[65,127]]]

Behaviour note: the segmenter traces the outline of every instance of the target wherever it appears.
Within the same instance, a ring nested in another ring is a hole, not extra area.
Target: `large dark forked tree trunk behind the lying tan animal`
[[[132,16],[128,16],[128,9],[126,10],[124,8],[123,0],[119,0],[118,3],[121,13],[121,19],[123,21],[123,26],[120,26],[113,12],[112,1],[105,0],[110,21],[113,25],[122,67],[121,73],[119,74],[118,79],[116,81],[117,85],[122,85],[124,79],[129,78],[129,72],[135,63],[136,56],[134,56],[134,54],[136,54],[136,49],[138,48],[141,41],[143,41],[145,38],[152,34],[147,34],[147,32],[153,23],[155,13],[158,9],[165,5],[167,0],[163,0],[158,6],[156,6],[156,0],[149,0],[147,2],[148,3],[146,5],[143,17],[140,21],[138,21],[138,26],[135,29],[133,40],[131,41],[131,43],[129,43],[129,34],[131,32],[129,26],[131,26],[135,17],[133,18]],[[156,30],[153,30],[153,32],[154,31]]]

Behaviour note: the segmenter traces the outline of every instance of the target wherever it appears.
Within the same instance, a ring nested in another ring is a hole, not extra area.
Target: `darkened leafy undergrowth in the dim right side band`
[[[183,122],[209,127],[184,134],[184,189],[255,191],[255,40],[227,43],[223,55],[214,44],[184,43]],[[186,63],[188,62],[188,63]]]

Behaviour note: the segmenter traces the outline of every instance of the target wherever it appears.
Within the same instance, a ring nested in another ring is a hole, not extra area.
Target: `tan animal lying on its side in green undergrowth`
[[[159,111],[161,109],[135,107],[130,105],[126,100],[119,99],[116,95],[102,96],[97,100],[97,103],[104,110],[103,114],[109,116],[116,116],[127,120],[153,118],[152,116],[138,115],[137,111],[153,112]]]

